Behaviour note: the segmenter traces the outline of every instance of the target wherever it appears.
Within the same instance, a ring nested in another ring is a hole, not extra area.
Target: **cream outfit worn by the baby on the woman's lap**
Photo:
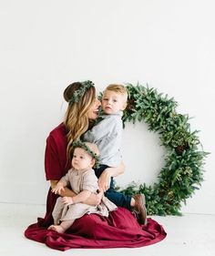
[[[95,194],[97,193],[97,176],[93,169],[69,169],[66,176],[62,177],[59,181],[70,185],[71,189],[77,194],[83,190],[89,190]],[[117,210],[117,206],[105,196],[103,196],[101,203],[97,206],[90,206],[85,203],[75,203],[67,206],[63,203],[62,198],[59,197],[56,200],[52,216],[55,225],[57,225],[59,221],[76,220],[84,214],[90,213],[97,213],[107,217],[108,212],[112,210]]]

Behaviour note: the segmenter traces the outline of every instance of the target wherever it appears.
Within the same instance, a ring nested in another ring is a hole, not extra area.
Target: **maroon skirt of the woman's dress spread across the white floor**
[[[97,214],[85,215],[64,234],[39,227],[38,223],[26,229],[26,238],[60,251],[71,248],[135,248],[166,237],[165,230],[157,221],[148,218],[148,224],[140,226],[129,210],[120,207],[110,212],[108,218]]]

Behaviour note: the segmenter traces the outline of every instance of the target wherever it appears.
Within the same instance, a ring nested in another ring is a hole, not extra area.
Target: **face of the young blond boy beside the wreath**
[[[127,106],[125,96],[115,91],[105,91],[101,101],[103,111],[109,114],[115,114],[119,110],[124,110]]]

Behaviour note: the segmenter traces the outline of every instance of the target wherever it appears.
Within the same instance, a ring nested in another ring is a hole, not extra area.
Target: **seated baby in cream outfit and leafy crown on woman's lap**
[[[97,177],[92,167],[97,164],[97,145],[77,140],[73,143],[74,153],[72,158],[72,169],[66,176],[62,177],[52,189],[54,193],[60,193],[69,184],[71,189],[77,193],[74,197],[59,197],[53,210],[54,225],[49,230],[64,233],[73,222],[84,214],[97,213],[108,216],[111,210],[117,210],[117,206],[106,197],[102,197],[97,206],[90,206],[83,201],[87,200],[91,193],[97,193]]]

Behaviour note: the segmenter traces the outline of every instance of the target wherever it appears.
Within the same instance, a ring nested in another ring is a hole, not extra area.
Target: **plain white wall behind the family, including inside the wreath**
[[[139,81],[194,117],[191,128],[211,154],[202,188],[182,210],[215,213],[213,3],[0,1],[0,201],[46,203],[46,137],[64,116],[69,83],[91,79],[101,91],[110,82]],[[127,171],[119,184],[153,183],[163,163],[158,135],[129,126],[123,147]]]

